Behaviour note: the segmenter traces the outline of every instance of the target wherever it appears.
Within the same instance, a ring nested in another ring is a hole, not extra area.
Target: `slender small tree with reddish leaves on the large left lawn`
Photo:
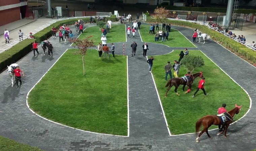
[[[85,60],[84,57],[86,55],[86,51],[87,48],[89,47],[95,47],[95,45],[93,45],[93,40],[89,40],[92,36],[88,36],[85,39],[78,39],[78,38],[69,38],[69,42],[73,43],[74,46],[73,47],[77,47],[78,51],[74,52],[74,54],[79,54],[82,57],[82,61],[83,61],[83,69],[84,69],[84,75],[85,75]]]

